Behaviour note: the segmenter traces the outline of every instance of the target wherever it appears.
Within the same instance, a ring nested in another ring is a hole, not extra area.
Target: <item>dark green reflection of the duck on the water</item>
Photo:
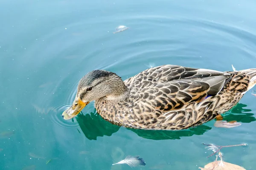
[[[241,123],[250,123],[256,120],[253,117],[253,113],[248,113],[251,110],[245,109],[247,105],[237,104],[231,111],[227,112],[227,115],[224,116],[223,120],[227,121],[237,121]],[[94,113],[83,114],[79,113],[76,116],[76,120],[81,127],[84,135],[89,140],[96,140],[98,136],[111,136],[113,133],[116,133],[119,130],[119,126],[112,125],[111,123],[102,119],[94,110]],[[141,136],[145,139],[153,140],[165,140],[165,139],[180,139],[184,136],[193,136],[193,135],[202,135],[212,127],[201,125],[198,127],[190,128],[188,130],[140,130],[140,129],[128,129],[137,133],[138,136]]]

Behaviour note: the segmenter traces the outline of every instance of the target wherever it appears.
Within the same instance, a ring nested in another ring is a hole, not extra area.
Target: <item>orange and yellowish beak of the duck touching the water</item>
[[[81,99],[75,99],[73,105],[62,113],[63,119],[68,120],[75,117],[88,103],[82,102]]]

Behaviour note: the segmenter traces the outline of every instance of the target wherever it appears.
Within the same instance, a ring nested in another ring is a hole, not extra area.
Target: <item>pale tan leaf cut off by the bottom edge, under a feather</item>
[[[231,164],[224,161],[213,161],[205,165],[204,168],[199,167],[201,170],[245,170],[236,164]]]

